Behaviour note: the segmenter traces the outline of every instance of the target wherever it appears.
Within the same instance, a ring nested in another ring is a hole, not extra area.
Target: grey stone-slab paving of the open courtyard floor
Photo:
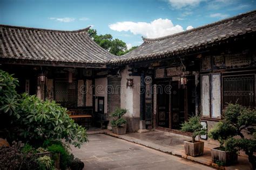
[[[105,134],[89,135],[89,143],[71,147],[84,169],[212,169]]]

